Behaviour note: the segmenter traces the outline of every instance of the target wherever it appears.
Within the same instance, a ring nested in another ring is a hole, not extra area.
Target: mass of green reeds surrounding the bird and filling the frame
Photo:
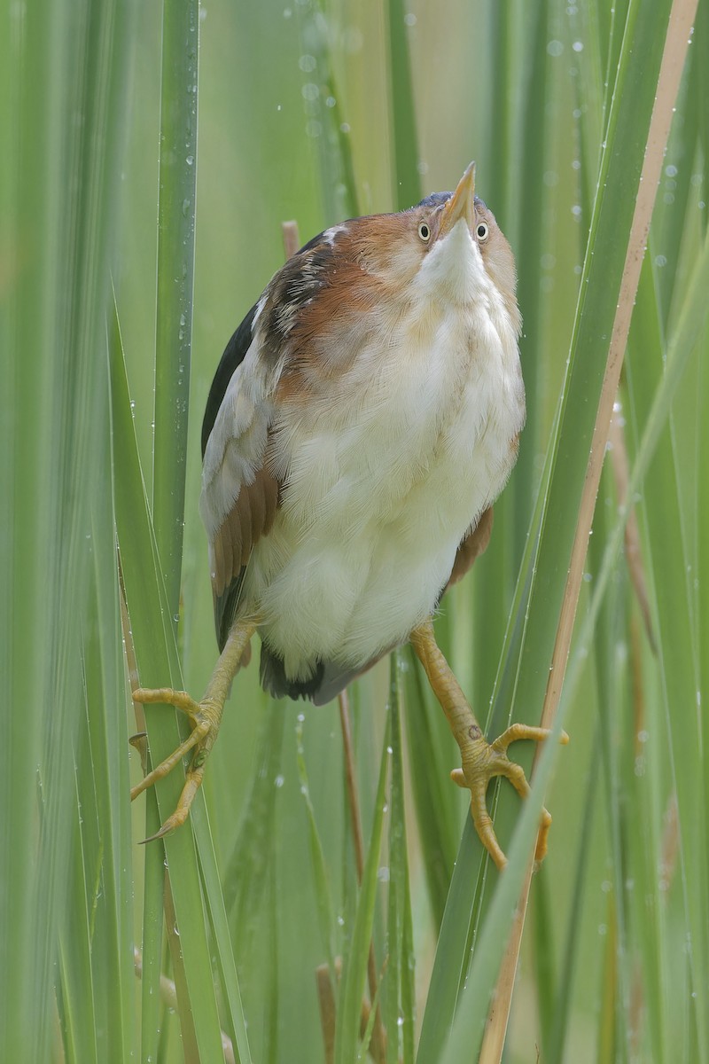
[[[511,910],[494,908],[496,874],[446,778],[455,744],[408,650],[351,693],[359,887],[337,706],[273,703],[253,665],[204,802],[165,849],[138,846],[158,814],[152,792],[129,807],[141,727],[125,636],[142,685],[199,697],[217,654],[202,412],[283,262],[282,221],[304,243],[455,187],[474,159],[517,255],[528,422],[492,544],[437,625],[482,720],[493,705],[494,731],[510,710],[537,722],[576,496],[554,515],[564,469],[580,497],[662,41],[685,6],[3,5],[2,1059],[210,1062],[224,1032],[243,1064],[351,1064],[370,934],[379,1059],[413,1061],[417,1046],[419,1064],[452,1059],[456,1010],[455,1059],[477,1059],[496,978],[477,946],[484,931],[486,949],[504,945]],[[514,1064],[709,1061],[708,31],[699,0],[617,404],[637,525],[624,552],[606,463],[561,706],[572,742],[547,759],[554,826]],[[545,656],[530,650],[541,639]],[[156,761],[184,722],[147,716]],[[520,807],[505,787],[511,846]],[[162,784],[163,816],[178,791]],[[328,962],[331,1058],[315,975]],[[486,987],[473,1001],[469,980]]]

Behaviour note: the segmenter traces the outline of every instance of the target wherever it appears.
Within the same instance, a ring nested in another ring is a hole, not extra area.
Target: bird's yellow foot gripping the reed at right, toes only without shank
[[[507,757],[507,747],[510,743],[516,743],[520,738],[530,738],[540,743],[547,738],[550,730],[547,728],[534,728],[530,725],[514,724],[506,732],[496,738],[494,743],[488,743],[483,738],[483,734],[476,725],[470,728],[470,738],[472,743],[467,747],[462,768],[454,768],[451,779],[459,787],[467,787],[470,791],[470,812],[473,824],[480,842],[489,852],[490,857],[501,870],[507,864],[507,858],[503,853],[497,837],[492,827],[492,820],[488,813],[485,795],[488,783],[495,776],[506,776],[514,789],[523,798],[529,794],[529,784],[521,765],[510,761]],[[561,743],[568,743],[569,736],[561,732]],[[546,841],[552,817],[547,810],[542,810],[539,834],[537,836],[537,849],[535,860],[541,861],[546,853]]]

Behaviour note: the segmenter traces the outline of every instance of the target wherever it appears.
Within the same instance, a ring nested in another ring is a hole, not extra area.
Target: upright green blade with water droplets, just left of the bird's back
[[[199,0],[163,5],[153,525],[173,625],[180,604],[195,287]]]

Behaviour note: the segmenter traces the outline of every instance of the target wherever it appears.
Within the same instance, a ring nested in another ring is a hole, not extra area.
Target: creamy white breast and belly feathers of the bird
[[[281,509],[249,583],[291,675],[308,655],[364,665],[403,642],[502,489],[524,390],[497,311],[382,321],[337,387],[281,403]]]

